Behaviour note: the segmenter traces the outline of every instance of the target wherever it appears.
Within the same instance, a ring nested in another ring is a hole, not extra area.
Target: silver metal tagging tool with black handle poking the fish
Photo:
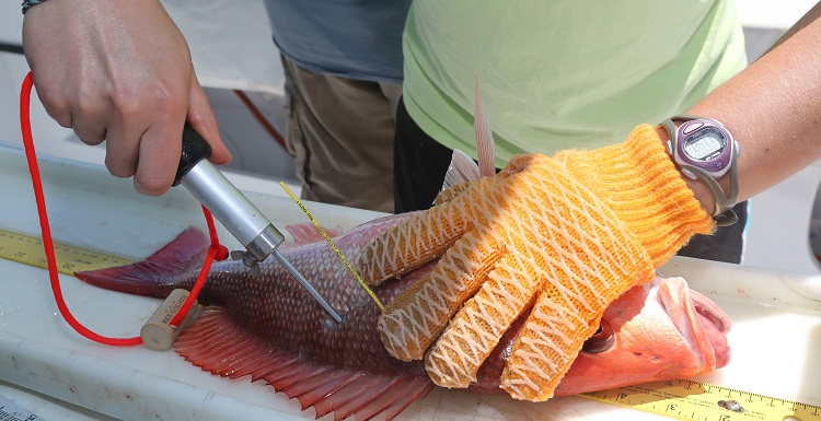
[[[285,241],[282,233],[207,160],[210,154],[211,147],[186,124],[174,186],[182,184],[245,247],[245,250],[231,252],[231,258],[242,260],[258,273],[259,262],[274,255],[331,317],[340,323],[339,314],[277,249]]]

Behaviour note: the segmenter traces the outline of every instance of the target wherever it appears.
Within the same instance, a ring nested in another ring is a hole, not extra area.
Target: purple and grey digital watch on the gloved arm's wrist
[[[681,121],[677,127],[675,121]],[[738,221],[732,207],[738,200],[738,142],[717,120],[680,114],[660,125],[668,133],[667,151],[673,157],[682,174],[706,184],[716,198],[713,219],[719,226],[732,225]],[[718,179],[729,173],[729,195],[718,184]]]

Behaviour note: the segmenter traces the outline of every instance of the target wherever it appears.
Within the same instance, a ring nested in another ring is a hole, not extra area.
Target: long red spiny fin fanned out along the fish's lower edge
[[[207,309],[180,337],[176,351],[194,365],[223,377],[251,376],[313,407],[316,418],[357,421],[385,413],[392,419],[433,388],[427,377],[374,374],[301,361],[236,327],[222,309]]]

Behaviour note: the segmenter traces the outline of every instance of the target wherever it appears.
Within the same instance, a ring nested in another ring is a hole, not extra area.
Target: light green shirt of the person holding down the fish
[[[478,80],[497,166],[621,142],[747,66],[722,0],[415,0],[403,51],[409,115],[473,157]]]

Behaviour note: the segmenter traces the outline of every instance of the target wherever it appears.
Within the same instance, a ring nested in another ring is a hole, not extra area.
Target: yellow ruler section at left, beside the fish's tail
[[[54,250],[57,270],[60,273],[71,276],[74,272],[134,262],[122,257],[56,242],[54,243]],[[46,252],[43,249],[43,239],[12,231],[0,230],[0,258],[43,269],[48,267]]]

